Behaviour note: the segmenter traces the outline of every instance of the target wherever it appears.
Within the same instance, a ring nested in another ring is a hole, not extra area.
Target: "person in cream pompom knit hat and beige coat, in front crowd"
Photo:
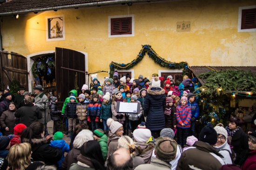
[[[118,139],[123,136],[123,125],[118,121],[114,121],[112,118],[108,118],[107,125],[110,129],[108,132],[108,157],[117,150]]]

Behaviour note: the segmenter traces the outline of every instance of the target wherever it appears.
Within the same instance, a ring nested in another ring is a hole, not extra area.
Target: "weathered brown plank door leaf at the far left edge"
[[[13,81],[13,78],[28,89],[26,57],[15,52],[0,51],[0,74],[1,89],[6,89],[7,85],[10,85]]]

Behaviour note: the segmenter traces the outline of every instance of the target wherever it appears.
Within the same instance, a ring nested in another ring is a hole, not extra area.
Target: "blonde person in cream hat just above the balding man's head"
[[[135,142],[131,137],[128,137],[126,135],[121,136],[118,139],[117,148],[119,149],[121,147],[127,149],[130,152],[131,157],[133,158],[133,169],[135,169],[137,166],[141,164],[145,164],[142,157],[136,157],[137,153],[135,152],[136,150],[135,148],[137,147],[137,145],[135,144]]]

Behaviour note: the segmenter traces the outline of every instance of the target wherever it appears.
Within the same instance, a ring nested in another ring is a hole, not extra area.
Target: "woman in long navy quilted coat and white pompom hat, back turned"
[[[155,77],[152,87],[148,87],[148,94],[144,103],[144,116],[146,127],[151,131],[152,136],[160,136],[160,131],[165,128],[164,110],[166,107],[165,91],[160,88],[160,80]]]

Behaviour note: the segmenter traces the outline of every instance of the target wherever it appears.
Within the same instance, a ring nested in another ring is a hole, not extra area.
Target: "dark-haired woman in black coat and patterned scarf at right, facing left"
[[[248,150],[248,135],[242,129],[242,120],[238,117],[233,117],[229,119],[229,126],[226,127],[228,136],[232,137],[231,146],[236,153],[236,161],[238,164],[241,158],[245,155],[246,150]]]

